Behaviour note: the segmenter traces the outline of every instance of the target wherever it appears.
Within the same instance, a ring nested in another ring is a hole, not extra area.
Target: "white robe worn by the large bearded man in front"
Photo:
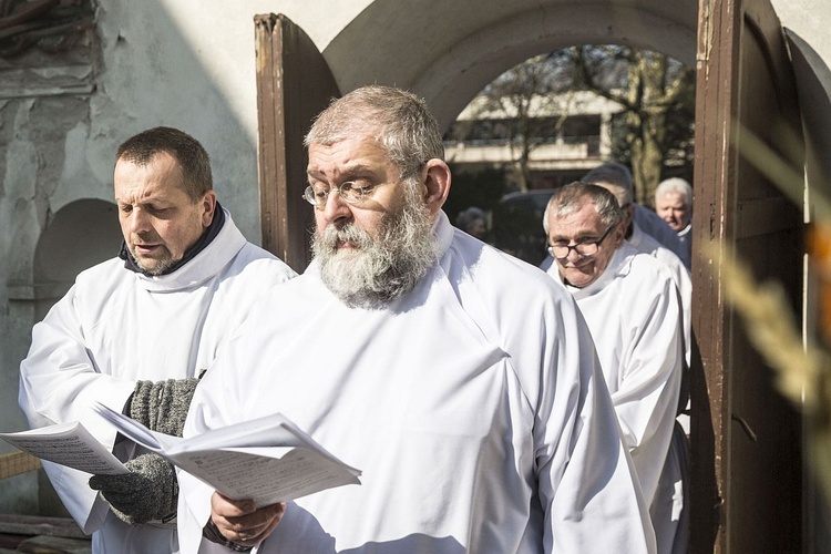
[[[258,552],[653,552],[574,300],[443,213],[435,233],[438,264],[384,309],[348,308],[315,263],[271,289],[197,388],[186,437],[279,411],[362,471],[288,502]],[[213,491],[179,475],[195,553]]]

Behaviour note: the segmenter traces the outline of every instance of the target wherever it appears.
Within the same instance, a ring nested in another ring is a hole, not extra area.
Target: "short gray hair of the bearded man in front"
[[[368,85],[335,99],[304,140],[330,145],[356,134],[375,137],[407,181],[432,158],[444,160],[441,129],[423,99],[392,86]]]

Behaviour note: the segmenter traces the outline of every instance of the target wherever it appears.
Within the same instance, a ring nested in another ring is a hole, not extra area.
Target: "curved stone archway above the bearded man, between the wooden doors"
[[[427,32],[410,23],[424,18]],[[373,82],[410,89],[447,129],[485,84],[538,53],[617,43],[693,66],[697,25],[694,0],[484,0],[475,10],[469,2],[373,2],[322,53],[341,93]]]

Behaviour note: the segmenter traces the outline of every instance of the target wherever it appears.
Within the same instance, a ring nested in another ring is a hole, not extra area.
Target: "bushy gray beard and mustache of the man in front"
[[[378,309],[416,288],[435,264],[435,237],[427,206],[408,194],[398,214],[384,217],[378,238],[347,223],[315,234],[311,250],[324,285],[352,308]],[[338,249],[339,240],[353,245]]]

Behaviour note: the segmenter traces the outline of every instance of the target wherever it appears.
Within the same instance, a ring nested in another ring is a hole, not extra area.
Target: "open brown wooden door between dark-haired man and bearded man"
[[[310,261],[311,206],[302,198],[302,138],[340,95],[309,37],[285,16],[254,18],[257,53],[259,202],[263,247],[301,273]]]

